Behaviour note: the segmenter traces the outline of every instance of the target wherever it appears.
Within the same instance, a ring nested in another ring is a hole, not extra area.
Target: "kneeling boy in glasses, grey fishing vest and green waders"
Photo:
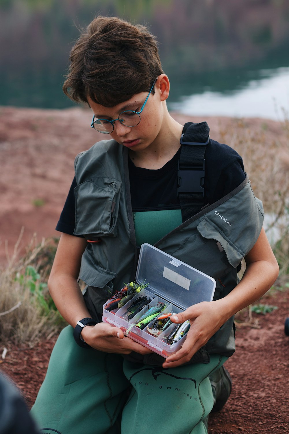
[[[180,138],[195,129],[169,115],[169,79],[145,27],[99,16],[70,61],[65,94],[91,107],[91,126],[110,140],[75,159],[49,277],[50,293],[70,326],[55,344],[32,412],[40,427],[61,434],[145,434],[156,427],[166,434],[205,433],[214,404],[208,375],[216,372],[218,379],[234,352],[234,314],[278,275],[262,207],[240,156],[209,140],[201,124],[205,179],[198,187],[204,197],[197,194],[192,212],[191,196],[178,194],[185,148]],[[214,301],[172,317],[175,323],[189,319],[191,327],[182,348],[166,360],[101,322],[110,294],[135,279],[144,242],[218,283]],[[237,285],[243,257],[247,269]],[[88,285],[84,296],[78,276]]]

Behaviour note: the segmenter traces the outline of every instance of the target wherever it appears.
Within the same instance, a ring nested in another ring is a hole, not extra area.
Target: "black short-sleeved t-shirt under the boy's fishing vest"
[[[121,146],[121,145],[120,145]],[[180,209],[177,170],[181,148],[160,169],[136,167],[129,158],[130,194],[133,212]],[[242,158],[234,149],[210,140],[205,153],[205,204],[213,204],[245,179]],[[72,181],[56,230],[73,235],[76,179]]]

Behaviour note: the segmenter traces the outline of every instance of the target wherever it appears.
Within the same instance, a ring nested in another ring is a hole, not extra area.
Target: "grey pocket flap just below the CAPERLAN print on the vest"
[[[208,240],[215,240],[219,243],[219,250],[221,245],[231,266],[236,268],[239,265],[245,253],[238,249],[216,224],[212,223],[207,217],[204,217],[198,224],[197,229],[202,237]]]

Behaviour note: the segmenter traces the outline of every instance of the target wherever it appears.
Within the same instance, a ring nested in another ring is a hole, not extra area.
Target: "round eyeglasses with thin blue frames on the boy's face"
[[[153,82],[152,89],[150,89],[149,91],[149,95],[153,90],[153,86],[155,85],[156,80],[157,78]],[[91,128],[94,128],[96,129],[96,131],[103,134],[110,134],[114,131],[114,122],[116,121],[120,121],[120,123],[125,125],[126,127],[136,127],[136,125],[140,123],[140,113],[143,111],[144,106],[149,99],[149,95],[147,95],[146,101],[143,103],[140,112],[135,112],[134,110],[125,110],[124,112],[121,112],[119,114],[117,119],[113,119],[112,121],[109,121],[108,119],[95,119],[95,116],[93,115]]]

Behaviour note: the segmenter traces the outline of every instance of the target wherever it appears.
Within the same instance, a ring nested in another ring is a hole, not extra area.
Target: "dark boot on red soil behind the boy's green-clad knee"
[[[226,404],[232,390],[232,379],[227,369],[221,366],[221,368],[209,375],[209,380],[211,381],[214,398],[214,407],[211,413],[214,413],[220,411]]]

